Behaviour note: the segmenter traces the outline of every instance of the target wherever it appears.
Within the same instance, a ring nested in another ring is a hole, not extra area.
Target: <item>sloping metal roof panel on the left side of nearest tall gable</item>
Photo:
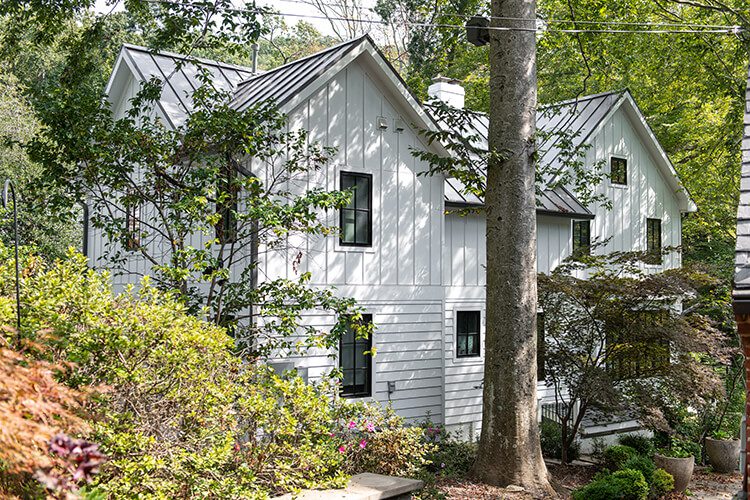
[[[243,110],[253,104],[267,101],[274,101],[277,106],[283,106],[366,40],[371,42],[369,36],[364,35],[255,75],[240,83],[231,106]]]

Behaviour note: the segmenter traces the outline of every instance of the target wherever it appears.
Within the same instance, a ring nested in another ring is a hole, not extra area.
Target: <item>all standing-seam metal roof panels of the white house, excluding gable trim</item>
[[[372,43],[369,36],[364,35],[260,74],[253,74],[250,68],[242,66],[169,52],[153,52],[134,45],[125,45],[124,50],[140,78],[148,80],[156,77],[165,82],[160,105],[172,126],[176,127],[184,123],[193,111],[192,93],[200,86],[196,62],[209,70],[215,85],[222,90],[234,91],[230,105],[235,109],[244,110],[267,101],[282,106],[365,41]],[[540,161],[551,164],[557,161],[561,131],[572,136],[574,147],[584,143],[624,92],[591,95],[541,108],[537,113],[537,125],[543,132],[549,132],[550,136],[540,144]],[[473,130],[468,132],[475,133],[486,147],[488,119],[482,113],[477,113],[476,117],[472,120]],[[477,196],[464,193],[463,186],[456,179],[446,180],[445,201],[454,206],[483,204]],[[593,214],[563,187],[541,193],[537,200],[537,211],[593,218]]]

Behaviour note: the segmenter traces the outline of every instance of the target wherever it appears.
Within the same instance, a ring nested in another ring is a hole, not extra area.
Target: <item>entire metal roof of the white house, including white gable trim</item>
[[[234,108],[243,110],[259,102],[272,100],[281,109],[292,107],[311,95],[333,74],[361,54],[369,54],[371,57],[368,62],[379,66],[380,71],[376,72],[378,73],[376,76],[381,77],[382,81],[396,89],[394,94],[402,99],[404,109],[409,113],[412,121],[421,123],[425,128],[436,130],[438,125],[431,113],[426,112],[425,107],[409,91],[406,83],[378,50],[369,35],[335,45],[260,74],[253,74],[249,68],[242,66],[125,45],[107,86],[107,93],[109,95],[113,90],[121,65],[127,65],[132,74],[141,81],[156,77],[165,82],[159,101],[159,111],[170,126],[177,127],[184,123],[193,110],[192,93],[200,86],[198,65],[211,73],[214,84],[220,89],[234,91],[234,97],[230,102]],[[679,183],[674,167],[627,90],[586,96],[541,108],[537,113],[537,125],[540,130],[549,133],[544,142],[539,145],[541,161],[554,165],[560,154],[562,136],[570,137],[574,147],[580,146],[602,126],[607,117],[625,103],[634,115],[635,121],[645,129],[644,136],[650,139],[650,147],[655,157],[661,159],[663,174],[668,184],[680,197],[681,210],[694,210],[695,204]],[[282,109],[282,111],[285,110],[288,111],[288,109]],[[487,116],[477,113],[476,119],[472,120],[472,127],[473,130],[470,132],[475,133],[486,146]],[[564,134],[559,132],[564,132]],[[442,149],[440,144],[435,143],[435,146]],[[482,205],[482,200],[463,193],[462,188],[463,186],[455,179],[447,179],[446,204]],[[563,187],[545,190],[539,196],[537,205],[540,213],[577,218],[593,217],[593,214]]]

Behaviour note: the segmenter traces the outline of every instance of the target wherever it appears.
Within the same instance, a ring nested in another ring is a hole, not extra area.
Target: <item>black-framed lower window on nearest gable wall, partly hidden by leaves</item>
[[[363,314],[364,323],[372,323],[372,314]],[[339,340],[339,369],[343,375],[341,395],[344,397],[368,397],[372,395],[372,339],[357,338],[351,328]]]

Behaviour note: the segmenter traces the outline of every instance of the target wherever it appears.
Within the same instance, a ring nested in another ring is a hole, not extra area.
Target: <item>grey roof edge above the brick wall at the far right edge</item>
[[[735,249],[735,311],[750,313],[750,72],[745,90],[745,135],[742,138],[740,202],[737,207],[737,246]]]

